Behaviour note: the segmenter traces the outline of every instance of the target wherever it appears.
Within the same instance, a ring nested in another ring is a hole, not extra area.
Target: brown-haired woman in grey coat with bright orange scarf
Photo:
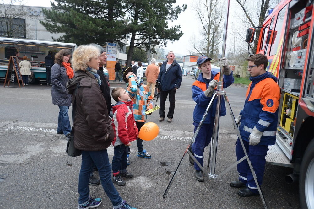
[[[71,125],[69,120],[69,107],[71,105],[71,95],[67,93],[67,81],[74,77],[74,72],[70,63],[71,51],[68,49],[60,50],[55,56],[55,63],[51,67],[51,96],[52,104],[58,105],[58,134],[69,137]]]

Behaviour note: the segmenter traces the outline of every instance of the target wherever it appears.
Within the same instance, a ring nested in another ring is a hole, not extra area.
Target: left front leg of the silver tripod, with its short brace
[[[194,132],[194,135],[193,135],[193,137],[192,137],[192,140],[190,141],[189,145],[187,146],[187,148],[186,148],[186,150],[185,150],[185,152],[184,152],[184,154],[183,154],[183,156],[182,156],[182,158],[181,158],[181,160],[180,160],[180,163],[179,163],[178,167],[176,168],[175,173],[174,173],[173,176],[171,177],[171,180],[170,180],[170,182],[169,182],[169,184],[168,184],[168,186],[167,186],[167,188],[166,188],[166,190],[165,190],[165,193],[164,193],[164,195],[162,196],[163,198],[166,198],[167,193],[168,193],[168,190],[170,189],[170,187],[171,187],[171,185],[172,185],[172,183],[173,183],[173,180],[174,180],[174,178],[176,177],[177,171],[179,170],[179,168],[180,168],[180,166],[181,166],[181,163],[182,163],[182,160],[183,160],[183,158],[185,157],[186,153],[189,153],[190,156],[194,159],[194,161],[198,164],[198,166],[199,166],[202,170],[204,170],[204,168],[203,168],[202,166],[200,166],[200,164],[198,163],[198,161],[194,158],[194,156],[192,156],[192,154],[188,151],[188,149],[190,148],[190,146],[192,145],[192,143],[195,141],[195,138],[196,138],[196,136],[198,135],[198,132],[199,132],[201,126],[203,125],[203,122],[204,122],[204,120],[205,120],[205,118],[206,118],[206,116],[207,116],[207,114],[208,114],[209,109],[213,106],[215,97],[216,97],[216,92],[213,94],[213,96],[212,96],[212,98],[211,98],[211,100],[210,100],[210,102],[209,102],[209,104],[208,104],[208,106],[207,106],[207,108],[206,108],[206,111],[205,111],[205,113],[204,113],[204,115],[203,115],[203,117],[202,117],[200,123],[198,124],[197,129],[196,129],[195,132]],[[204,171],[203,171],[203,173],[204,173]]]

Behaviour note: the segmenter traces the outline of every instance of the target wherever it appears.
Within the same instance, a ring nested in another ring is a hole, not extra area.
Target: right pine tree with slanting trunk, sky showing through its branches
[[[131,2],[131,1],[130,1]],[[167,21],[176,20],[178,14],[187,5],[174,7],[176,0],[133,0],[135,5],[128,11],[128,23],[131,40],[127,53],[127,63],[130,64],[134,47],[150,47],[154,53],[154,46],[165,45],[167,41],[179,40],[183,35],[180,25],[169,28]],[[149,43],[150,40],[150,43]]]

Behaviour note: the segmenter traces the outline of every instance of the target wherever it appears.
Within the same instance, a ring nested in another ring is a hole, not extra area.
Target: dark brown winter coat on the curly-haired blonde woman
[[[79,83],[77,94],[75,88]],[[74,117],[74,146],[79,150],[96,151],[108,148],[114,137],[106,101],[93,74],[75,72],[68,82],[72,103],[76,102]],[[109,136],[106,139],[107,134]]]

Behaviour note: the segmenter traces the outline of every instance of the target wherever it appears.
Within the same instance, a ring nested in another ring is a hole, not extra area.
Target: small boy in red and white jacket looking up
[[[138,137],[138,129],[134,120],[132,105],[129,94],[124,88],[118,87],[112,90],[112,98],[117,102],[113,109],[113,129],[115,137],[112,142],[114,156],[112,159],[113,183],[124,186],[126,183],[121,176],[132,178],[133,174],[127,172],[127,153],[130,142]]]

